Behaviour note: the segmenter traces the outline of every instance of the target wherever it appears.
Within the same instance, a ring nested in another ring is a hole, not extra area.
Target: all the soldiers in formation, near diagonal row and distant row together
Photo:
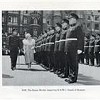
[[[62,23],[45,30],[36,40],[35,60],[65,81],[74,83],[78,76],[78,62],[100,67],[100,35],[85,35],[78,23],[78,16],[71,14]]]

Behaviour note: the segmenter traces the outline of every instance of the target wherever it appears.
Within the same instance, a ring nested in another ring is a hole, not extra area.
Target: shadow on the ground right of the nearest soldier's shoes
[[[90,76],[84,76],[82,74],[78,75],[77,83],[83,84],[83,85],[100,85],[99,80],[93,79],[93,77],[90,77]]]

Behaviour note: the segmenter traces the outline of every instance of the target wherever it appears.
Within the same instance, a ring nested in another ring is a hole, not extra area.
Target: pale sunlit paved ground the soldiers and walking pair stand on
[[[24,59],[24,58],[23,58]],[[31,70],[27,70],[24,60],[18,58],[17,70],[10,69],[9,56],[2,57],[2,84],[3,86],[62,86],[62,85],[100,85],[100,67],[79,65],[78,82],[68,84],[65,79],[49,72],[35,63]]]

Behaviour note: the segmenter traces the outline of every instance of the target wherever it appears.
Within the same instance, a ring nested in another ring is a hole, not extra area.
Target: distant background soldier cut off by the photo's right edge
[[[96,57],[96,67],[100,67],[100,34],[97,34],[94,51]]]

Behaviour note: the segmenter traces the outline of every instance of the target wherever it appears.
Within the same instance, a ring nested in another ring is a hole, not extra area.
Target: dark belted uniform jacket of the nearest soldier
[[[84,34],[82,32],[81,27],[76,26],[74,28],[69,28],[66,34],[65,52],[69,51],[76,52],[77,50],[83,50],[83,46],[84,46]]]

